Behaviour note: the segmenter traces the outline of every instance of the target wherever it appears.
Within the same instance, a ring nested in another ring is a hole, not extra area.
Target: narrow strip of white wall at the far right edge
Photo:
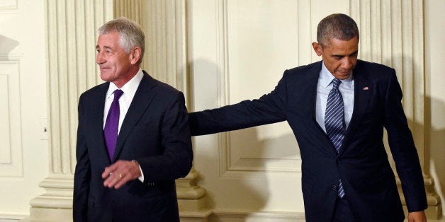
[[[445,214],[445,1],[425,1],[425,73],[431,106],[430,171]]]

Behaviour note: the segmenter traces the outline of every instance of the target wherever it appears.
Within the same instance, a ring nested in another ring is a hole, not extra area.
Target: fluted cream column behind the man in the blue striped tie
[[[417,0],[351,0],[350,13],[360,29],[361,59],[385,64],[397,71],[403,90],[403,107],[424,173],[427,218],[437,219],[441,216],[441,201],[434,191],[434,180],[429,175],[429,127],[425,125],[429,114],[424,112],[427,94],[423,4],[423,1]],[[393,161],[392,164],[394,166]],[[398,185],[402,203],[405,204],[399,179]]]

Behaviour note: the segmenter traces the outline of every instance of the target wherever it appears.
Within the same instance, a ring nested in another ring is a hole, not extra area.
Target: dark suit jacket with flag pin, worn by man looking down
[[[402,221],[402,204],[383,146],[388,132],[409,211],[427,208],[422,170],[395,70],[359,60],[354,69],[354,112],[339,153],[315,119],[322,62],[286,70],[275,90],[189,115],[191,134],[212,134],[288,121],[300,147],[302,189],[308,221],[330,221],[339,179],[357,221]]]

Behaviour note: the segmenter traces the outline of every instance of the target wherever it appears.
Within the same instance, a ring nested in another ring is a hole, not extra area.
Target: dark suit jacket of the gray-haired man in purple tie
[[[74,221],[179,221],[174,180],[188,174],[193,158],[184,95],[144,71],[110,160],[103,137],[109,84],[79,98]],[[137,160],[144,183],[103,187],[101,174],[116,160]]]

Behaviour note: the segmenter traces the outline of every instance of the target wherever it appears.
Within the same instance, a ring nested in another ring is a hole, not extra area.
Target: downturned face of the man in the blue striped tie
[[[327,70],[335,78],[348,78],[357,64],[357,54],[359,53],[357,37],[347,41],[332,38],[323,46],[313,42],[312,47],[318,56],[322,56]]]

